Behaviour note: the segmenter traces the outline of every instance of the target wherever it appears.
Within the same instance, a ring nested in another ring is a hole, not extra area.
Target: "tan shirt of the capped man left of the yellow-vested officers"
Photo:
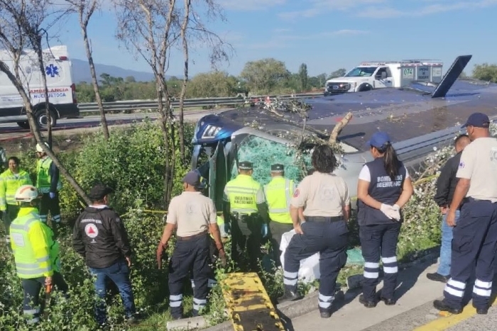
[[[166,222],[177,225],[178,237],[197,235],[217,222],[216,206],[200,192],[183,192],[169,203]]]

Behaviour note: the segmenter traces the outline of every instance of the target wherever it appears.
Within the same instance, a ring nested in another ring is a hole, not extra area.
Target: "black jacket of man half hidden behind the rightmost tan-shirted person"
[[[459,179],[456,177],[459,162],[461,162],[462,151],[451,157],[444,164],[437,179],[437,193],[433,199],[439,207],[450,206],[454,191],[456,190]]]

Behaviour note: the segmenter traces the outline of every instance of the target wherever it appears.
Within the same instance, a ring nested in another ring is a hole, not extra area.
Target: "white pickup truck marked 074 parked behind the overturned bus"
[[[442,80],[442,66],[442,62],[433,60],[362,62],[344,77],[327,80],[324,96],[386,87],[399,88],[413,82],[439,83]]]

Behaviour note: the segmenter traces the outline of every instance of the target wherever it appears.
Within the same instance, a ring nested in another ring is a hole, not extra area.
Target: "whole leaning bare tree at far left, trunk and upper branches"
[[[40,45],[43,38],[43,33],[45,30],[40,28],[33,28],[31,24],[43,22],[46,17],[40,17],[42,11],[40,11],[40,0],[0,0],[0,45],[2,45],[5,50],[4,54],[8,54],[11,57],[10,61],[0,60],[0,71],[6,74],[13,86],[16,87],[18,93],[23,99],[23,106],[26,109],[26,116],[28,117],[28,123],[31,127],[35,140],[40,143],[43,150],[47,155],[53,160],[55,165],[59,168],[62,176],[67,179],[69,184],[75,189],[75,191],[83,198],[86,203],[91,203],[86,193],[82,190],[75,179],[67,172],[67,169],[62,166],[59,159],[55,154],[43,144],[43,137],[40,133],[40,128],[35,122],[35,116],[33,114],[33,104],[31,103],[30,94],[26,91],[29,89],[27,85],[28,79],[26,77],[26,72],[23,72],[23,68],[20,66],[21,57],[24,55],[24,50],[26,47],[32,47],[36,51],[36,47]],[[33,23],[35,22],[35,23]],[[38,26],[39,27],[39,26]],[[43,67],[43,56],[40,58],[39,52],[37,53],[40,69],[44,72]],[[11,67],[6,63],[9,62]],[[45,95],[47,94],[46,84],[45,84]]]

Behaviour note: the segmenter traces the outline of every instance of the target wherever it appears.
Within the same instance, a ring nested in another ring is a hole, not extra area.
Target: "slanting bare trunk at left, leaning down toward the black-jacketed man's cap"
[[[6,66],[6,64],[2,61],[0,61],[0,71],[4,72],[4,74],[9,77],[11,83],[16,86],[17,91],[19,94],[21,94],[21,97],[23,98],[24,101],[24,106],[26,107],[26,115],[28,116],[28,123],[31,125],[31,128],[33,128],[33,135],[35,137],[35,140],[40,144],[40,146],[43,148],[43,150],[47,153],[48,157],[52,159],[53,163],[59,168],[60,173],[64,178],[69,182],[69,184],[75,189],[76,193],[80,195],[80,197],[86,202],[87,204],[91,204],[92,201],[88,198],[87,194],[83,191],[81,186],[77,184],[77,181],[67,172],[67,169],[62,166],[62,164],[59,162],[59,159],[55,156],[55,154],[52,152],[52,150],[48,149],[45,144],[43,144],[43,138],[40,133],[40,129],[38,128],[38,125],[35,123],[35,118],[33,116],[33,105],[31,105],[31,99],[29,99],[28,94],[26,94],[26,91],[24,90],[23,85],[21,82],[19,82],[18,79],[10,72],[9,67]]]

